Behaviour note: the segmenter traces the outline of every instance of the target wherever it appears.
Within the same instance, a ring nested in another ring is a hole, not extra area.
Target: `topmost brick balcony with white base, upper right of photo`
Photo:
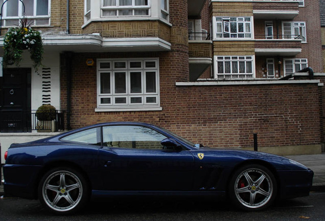
[[[265,1],[253,3],[254,18],[263,19],[293,19],[299,14],[299,1]]]

